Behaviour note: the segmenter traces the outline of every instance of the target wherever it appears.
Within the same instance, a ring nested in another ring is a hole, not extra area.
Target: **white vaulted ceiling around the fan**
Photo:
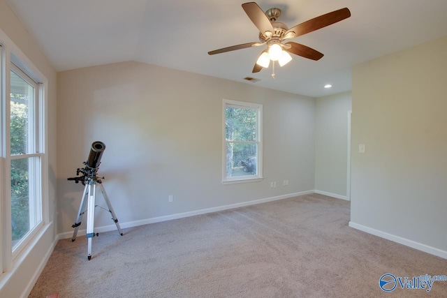
[[[447,36],[446,0],[270,0],[288,27],[339,8],[351,17],[294,38],[323,52],[252,74],[263,48],[210,56],[210,50],[258,41],[238,0],[6,0],[58,71],[140,61],[307,96],[351,89],[351,66]],[[446,59],[446,57],[439,57]],[[324,89],[327,83],[332,89]]]

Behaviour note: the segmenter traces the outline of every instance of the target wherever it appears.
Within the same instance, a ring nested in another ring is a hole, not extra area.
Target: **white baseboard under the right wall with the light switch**
[[[353,223],[352,221],[349,222],[349,226],[351,228],[360,230],[362,232],[367,232],[369,234],[373,234],[375,236],[384,238],[384,239],[388,239],[394,242],[397,242],[399,244],[403,244],[405,246],[409,246],[411,248],[415,248],[418,251],[423,251],[425,253],[430,253],[431,255],[437,255],[438,257],[447,259],[447,251],[443,251],[439,248],[435,248],[432,246],[428,246],[425,244],[421,244],[419,242],[413,241],[413,240],[409,240],[400,236],[396,236],[393,234],[389,234],[387,232],[382,232],[373,228],[369,228],[366,227],[365,225],[359,225],[358,223]]]

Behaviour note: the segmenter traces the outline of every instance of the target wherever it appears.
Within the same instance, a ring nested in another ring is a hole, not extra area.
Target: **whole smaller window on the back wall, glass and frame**
[[[262,179],[262,108],[223,100],[223,183]]]

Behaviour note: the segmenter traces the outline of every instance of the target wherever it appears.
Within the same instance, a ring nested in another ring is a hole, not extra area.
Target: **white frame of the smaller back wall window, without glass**
[[[238,177],[227,177],[226,176],[226,107],[237,107],[243,109],[256,110],[257,112],[257,139],[254,141],[258,145],[258,156],[257,156],[257,172],[255,175],[238,176]],[[247,103],[244,101],[223,99],[222,105],[222,183],[223,184],[233,184],[241,182],[253,182],[263,180],[263,105],[258,103]]]

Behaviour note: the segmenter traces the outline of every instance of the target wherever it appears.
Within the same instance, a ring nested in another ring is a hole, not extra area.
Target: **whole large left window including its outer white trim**
[[[45,76],[0,30],[0,274],[29,253],[49,220],[46,87]]]

